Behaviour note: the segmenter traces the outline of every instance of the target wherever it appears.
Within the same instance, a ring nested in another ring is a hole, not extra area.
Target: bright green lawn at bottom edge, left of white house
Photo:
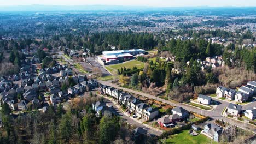
[[[183,144],[183,143],[200,143],[200,144],[208,144],[213,143],[217,144],[214,140],[209,139],[203,134],[192,136],[188,133],[189,130],[183,130],[181,133],[176,135],[171,135],[168,139],[166,139],[166,143],[177,143],[177,144]]]

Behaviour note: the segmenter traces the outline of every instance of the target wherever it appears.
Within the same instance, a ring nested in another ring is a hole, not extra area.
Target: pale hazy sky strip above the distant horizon
[[[125,5],[150,7],[256,6],[256,0],[0,0],[4,5]]]

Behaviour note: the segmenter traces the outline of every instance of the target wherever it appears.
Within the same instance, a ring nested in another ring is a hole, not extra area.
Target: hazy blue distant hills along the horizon
[[[0,11],[185,11],[211,9],[255,10],[256,7],[140,7],[121,5],[16,5],[0,6]]]

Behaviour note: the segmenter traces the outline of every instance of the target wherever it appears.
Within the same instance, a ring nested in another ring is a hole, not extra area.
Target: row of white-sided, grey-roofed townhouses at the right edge
[[[216,95],[229,100],[235,100],[238,103],[243,103],[256,94],[256,81],[249,81],[246,86],[242,86],[236,92],[234,89],[220,86],[216,89]]]

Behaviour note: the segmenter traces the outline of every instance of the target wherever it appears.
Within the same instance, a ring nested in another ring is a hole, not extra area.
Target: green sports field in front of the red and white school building
[[[128,62],[123,62],[120,64],[112,64],[109,66],[106,66],[106,69],[110,71],[110,73],[113,73],[114,70],[118,70],[121,68],[133,68],[133,67],[137,67],[138,69],[142,69],[144,68],[144,63],[136,61],[136,60],[132,60],[132,61],[128,61]]]

